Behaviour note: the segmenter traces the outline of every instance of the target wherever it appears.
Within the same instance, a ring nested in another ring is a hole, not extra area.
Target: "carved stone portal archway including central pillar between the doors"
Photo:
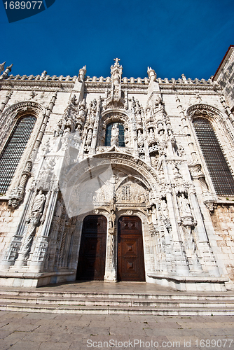
[[[105,281],[117,280],[116,225],[118,218],[123,215],[141,218],[146,269],[147,271],[153,269],[153,251],[147,211],[154,191],[157,192],[159,188],[157,176],[155,170],[142,160],[136,160],[131,155],[117,152],[95,155],[92,159],[83,160],[77,167],[64,174],[64,179],[69,179],[67,188],[72,188],[71,193],[67,193],[70,207],[77,209],[79,204],[74,194],[80,193],[81,195],[82,190],[87,196],[83,197],[83,203],[87,204],[91,200],[87,212],[78,215],[78,221],[81,223],[88,215],[88,211],[107,218]],[[95,188],[95,183],[98,184],[97,188]],[[77,211],[72,212],[71,208],[70,215],[77,214]],[[79,226],[78,231],[78,235],[81,236],[82,225]]]

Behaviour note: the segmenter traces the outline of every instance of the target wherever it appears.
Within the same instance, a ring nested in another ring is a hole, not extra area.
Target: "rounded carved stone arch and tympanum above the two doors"
[[[123,153],[102,153],[83,160],[69,171],[62,170],[60,189],[69,216],[99,206],[109,207],[115,195],[119,204],[135,203],[135,207],[146,208],[160,188],[153,168]],[[137,197],[137,188],[141,188],[139,195],[144,195]]]

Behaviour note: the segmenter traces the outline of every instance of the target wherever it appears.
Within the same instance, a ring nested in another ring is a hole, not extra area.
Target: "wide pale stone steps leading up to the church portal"
[[[1,311],[234,316],[233,293],[86,293],[0,290]]]

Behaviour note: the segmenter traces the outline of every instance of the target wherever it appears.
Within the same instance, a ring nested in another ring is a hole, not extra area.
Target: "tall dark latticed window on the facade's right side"
[[[233,176],[224,158],[212,124],[206,118],[195,118],[193,126],[216,194],[234,196]]]

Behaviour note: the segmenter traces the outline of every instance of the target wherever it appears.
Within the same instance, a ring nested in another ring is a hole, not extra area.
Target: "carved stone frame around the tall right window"
[[[219,195],[216,193],[216,190],[214,188],[214,184],[212,182],[212,178],[209,174],[207,163],[205,162],[204,155],[202,153],[202,148],[200,147],[200,143],[198,141],[197,134],[195,132],[195,128],[193,127],[193,120],[195,118],[204,118],[209,121],[212,125],[212,129],[214,130],[214,134],[216,136],[216,139],[219,143],[219,146],[221,148],[221,151],[223,153],[223,157],[225,158],[226,162],[228,163],[228,167],[230,169],[230,173],[233,176],[234,179],[234,164],[231,162],[230,159],[230,151],[232,151],[232,148],[234,148],[234,142],[233,142],[233,126],[229,123],[228,117],[226,114],[219,111],[219,109],[214,108],[213,106],[204,105],[204,104],[196,104],[188,108],[187,111],[188,120],[190,120],[190,126],[191,126],[191,133],[195,144],[195,149],[198,151],[200,162],[202,164],[202,168],[205,173],[205,178],[207,179],[207,183],[209,186],[209,189],[211,189],[212,193],[214,195],[218,195],[220,197],[223,197],[224,195]],[[221,131],[224,130],[223,134]],[[231,133],[231,134],[230,134]],[[225,139],[226,138],[226,139]],[[228,148],[229,145],[229,148]],[[231,146],[230,146],[231,145]],[[234,156],[234,152],[233,152]],[[229,197],[232,197],[229,195]]]

